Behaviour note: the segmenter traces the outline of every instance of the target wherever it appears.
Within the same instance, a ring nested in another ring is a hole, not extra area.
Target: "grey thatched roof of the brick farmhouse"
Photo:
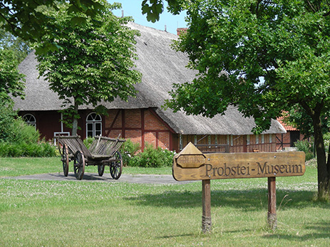
[[[185,68],[187,56],[184,53],[173,51],[170,43],[177,36],[155,28],[129,23],[130,28],[138,29],[141,36],[136,37],[138,61],[135,62],[138,70],[143,74],[142,83],[136,85],[139,93],[136,98],[128,102],[116,99],[112,103],[103,103],[108,109],[138,109],[155,108],[158,115],[167,122],[172,130],[184,135],[250,135],[254,127],[252,118],[242,117],[234,107],[229,107],[225,115],[216,115],[208,118],[185,115],[184,112],[163,110],[164,100],[169,98],[168,92],[172,83],[191,81],[195,72]],[[36,70],[36,56],[29,56],[19,65],[21,73],[26,75],[26,99],[15,98],[15,108],[22,111],[60,110],[61,100],[58,95],[48,88],[43,78],[38,79]],[[91,107],[82,106],[80,109]],[[277,121],[267,133],[284,133],[285,130]]]

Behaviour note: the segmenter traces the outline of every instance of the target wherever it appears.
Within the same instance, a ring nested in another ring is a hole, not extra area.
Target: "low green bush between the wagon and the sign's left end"
[[[147,144],[143,152],[136,154],[128,163],[131,167],[171,167],[174,153]]]

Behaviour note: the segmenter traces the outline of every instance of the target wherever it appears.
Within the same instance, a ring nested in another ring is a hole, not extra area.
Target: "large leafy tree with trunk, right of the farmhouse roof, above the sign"
[[[212,117],[235,105],[260,132],[298,104],[314,127],[319,196],[330,194],[321,131],[330,105],[329,2],[195,0],[180,8],[188,30],[175,47],[198,74],[175,85],[167,107]]]

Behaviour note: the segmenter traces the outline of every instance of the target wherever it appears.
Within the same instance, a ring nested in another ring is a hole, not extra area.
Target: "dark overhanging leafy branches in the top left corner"
[[[58,9],[58,4],[68,2],[68,14],[83,13],[93,18],[103,11],[99,0],[4,0],[0,2],[0,26],[16,37],[31,43],[43,42],[37,52],[58,48],[55,43],[47,43],[45,37],[63,37],[62,26],[54,22],[52,16],[44,11],[46,8]],[[84,23],[86,19],[73,16],[71,24]],[[48,39],[49,40],[49,39]]]

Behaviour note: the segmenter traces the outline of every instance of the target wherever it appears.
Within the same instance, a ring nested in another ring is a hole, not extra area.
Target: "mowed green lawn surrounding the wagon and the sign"
[[[210,234],[201,231],[202,182],[4,179],[61,169],[59,158],[0,158],[0,246],[330,246],[330,203],[313,199],[314,166],[277,178],[276,231],[267,226],[267,179],[212,180]]]

